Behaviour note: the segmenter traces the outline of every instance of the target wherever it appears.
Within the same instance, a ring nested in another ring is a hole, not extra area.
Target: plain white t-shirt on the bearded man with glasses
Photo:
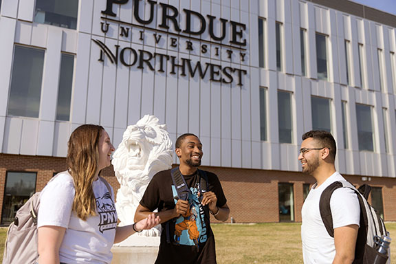
[[[303,241],[304,263],[333,263],[336,256],[334,239],[327,232],[320,217],[319,200],[323,190],[334,181],[345,181],[340,173],[333,173],[319,187],[316,184],[311,188],[307,199],[303,204],[301,214],[301,239]],[[349,188],[338,188],[333,192],[330,199],[331,214],[333,216],[333,228],[346,225],[359,225],[360,206],[355,192]]]

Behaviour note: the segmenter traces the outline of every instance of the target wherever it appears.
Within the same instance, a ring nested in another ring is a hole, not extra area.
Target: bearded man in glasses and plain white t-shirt
[[[304,263],[352,263],[360,222],[360,206],[355,192],[338,188],[330,199],[334,238],[329,235],[320,216],[319,200],[322,191],[334,181],[345,180],[336,171],[336,141],[327,131],[309,131],[303,135],[298,160],[303,173],[316,183],[305,199],[301,239]]]

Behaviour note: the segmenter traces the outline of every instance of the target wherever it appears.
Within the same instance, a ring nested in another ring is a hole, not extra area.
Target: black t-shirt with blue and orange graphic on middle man
[[[206,172],[208,190],[217,196],[217,206],[227,202],[219,179],[214,173]],[[184,175],[190,188],[188,202],[190,210],[178,219],[162,223],[161,244],[156,264],[161,263],[216,263],[214,236],[210,228],[210,216],[199,202],[198,192],[201,189],[199,175]],[[206,187],[202,187],[206,189]],[[170,170],[164,170],[154,175],[144,192],[140,204],[149,210],[170,210],[177,203],[177,191],[173,185]],[[167,242],[166,233],[170,243]]]

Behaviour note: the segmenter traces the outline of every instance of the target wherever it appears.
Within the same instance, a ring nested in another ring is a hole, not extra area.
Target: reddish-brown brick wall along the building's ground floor
[[[39,191],[54,173],[66,168],[66,159],[63,157],[0,154],[0,215],[7,171],[36,172],[36,191]],[[278,183],[294,185],[295,220],[301,221],[303,184],[314,184],[314,179],[303,173],[219,167],[202,167],[202,169],[219,176],[231,210],[230,217],[238,223],[278,222]],[[105,168],[102,176],[113,186],[116,194],[120,184],[113,173],[113,166]],[[371,177],[371,181],[362,181],[360,176],[344,176],[356,186],[369,183],[371,186],[382,187],[385,220],[396,221],[396,179]],[[214,217],[212,221],[216,222]]]

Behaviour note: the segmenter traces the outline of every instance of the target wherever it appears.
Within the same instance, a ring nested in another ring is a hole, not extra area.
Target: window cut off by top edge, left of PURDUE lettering
[[[34,22],[77,28],[78,0],[36,0]]]

